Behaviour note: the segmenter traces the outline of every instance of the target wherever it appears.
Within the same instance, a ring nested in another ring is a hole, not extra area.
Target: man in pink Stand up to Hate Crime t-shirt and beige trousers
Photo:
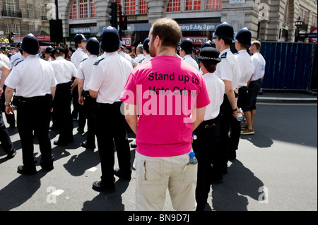
[[[155,58],[131,72],[122,92],[136,133],[137,210],[162,210],[167,187],[174,209],[196,209],[197,164],[189,164],[189,152],[210,99],[201,73],[175,54],[181,34],[175,20],[155,20],[149,33]]]

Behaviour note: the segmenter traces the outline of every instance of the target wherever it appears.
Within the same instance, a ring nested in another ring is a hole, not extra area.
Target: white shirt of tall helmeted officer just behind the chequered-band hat
[[[232,82],[233,90],[237,87],[240,80],[240,66],[237,59],[232,54],[230,49],[224,49],[220,53],[220,63],[216,66],[216,76],[221,80],[228,80]]]

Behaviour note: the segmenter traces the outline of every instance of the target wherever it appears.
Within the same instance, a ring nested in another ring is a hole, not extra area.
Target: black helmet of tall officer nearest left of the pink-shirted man
[[[116,28],[111,26],[107,27],[102,32],[102,41],[100,42],[100,48],[106,52],[117,51],[120,47],[119,34]]]

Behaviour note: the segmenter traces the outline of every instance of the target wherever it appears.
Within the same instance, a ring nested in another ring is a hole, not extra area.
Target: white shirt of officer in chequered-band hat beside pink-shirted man
[[[218,78],[214,73],[204,74],[208,96],[211,99],[210,104],[206,106],[204,121],[216,118],[220,114],[220,105],[223,103],[225,94],[225,85],[223,80]]]

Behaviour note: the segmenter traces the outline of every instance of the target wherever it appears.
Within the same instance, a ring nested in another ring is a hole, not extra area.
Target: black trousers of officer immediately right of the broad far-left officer
[[[73,140],[73,119],[71,116],[71,83],[57,85],[53,101],[54,126],[59,131],[59,142]]]

